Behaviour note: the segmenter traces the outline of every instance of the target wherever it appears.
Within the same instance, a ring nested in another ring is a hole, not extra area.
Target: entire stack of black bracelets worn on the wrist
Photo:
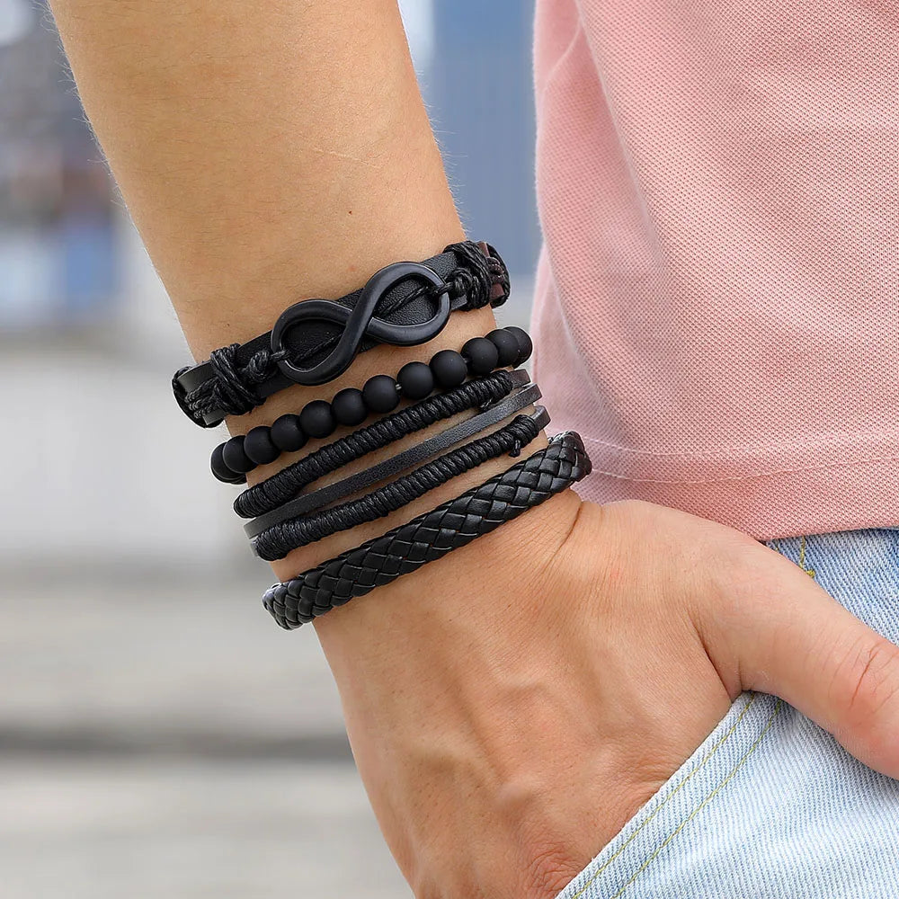
[[[292,384],[332,382],[358,353],[378,344],[426,343],[453,312],[499,306],[508,295],[508,271],[492,246],[451,244],[424,263],[387,265],[343,298],[289,307],[268,334],[221,347],[209,360],[177,371],[174,395],[191,421],[211,427]],[[539,387],[518,368],[532,350],[521,328],[496,328],[458,352],[441,350],[427,362],[408,362],[396,376],[375,375],[220,443],[209,461],[212,473],[219,481],[245,484],[248,472],[282,453],[298,452],[310,440],[326,441],[340,428],[355,429],[237,496],[234,508],[250,520],[245,532],[256,555],[284,558],[397,512],[490,459],[519,456],[549,423],[546,409],[537,405]],[[365,424],[372,416],[376,420]],[[441,422],[449,425],[418,442],[406,441],[369,467],[332,477]],[[589,472],[580,437],[554,437],[546,449],[432,512],[275,584],[263,604],[282,628],[298,628],[466,546]]]

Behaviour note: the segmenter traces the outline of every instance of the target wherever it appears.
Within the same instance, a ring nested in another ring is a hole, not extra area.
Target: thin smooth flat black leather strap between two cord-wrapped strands
[[[298,518],[300,515],[307,515],[309,512],[324,509],[325,506],[331,503],[336,503],[352,494],[360,493],[371,485],[378,484],[379,481],[398,475],[400,472],[419,465],[447,449],[458,446],[462,441],[467,441],[469,437],[474,437],[494,424],[503,422],[510,415],[519,412],[521,409],[533,405],[539,398],[540,388],[536,384],[526,385],[500,402],[488,406],[484,412],[473,415],[464,422],[460,422],[444,432],[435,434],[426,441],[416,443],[414,447],[404,449],[403,452],[397,453],[396,456],[384,459],[382,462],[378,462],[377,465],[358,471],[354,475],[344,477],[343,480],[334,481],[333,484],[320,487],[312,493],[300,494],[296,499],[280,505],[277,509],[266,512],[264,515],[254,518],[253,521],[248,521],[244,525],[245,534],[252,540],[261,534],[263,530],[274,528],[285,521]]]

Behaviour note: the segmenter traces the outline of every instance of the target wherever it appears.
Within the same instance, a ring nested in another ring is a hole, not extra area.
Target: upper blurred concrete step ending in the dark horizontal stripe
[[[0,752],[349,759],[315,630],[262,608],[267,566],[109,575],[4,580]]]

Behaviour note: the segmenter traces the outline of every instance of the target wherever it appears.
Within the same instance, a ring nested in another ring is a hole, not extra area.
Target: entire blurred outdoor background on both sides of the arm
[[[531,4],[401,5],[468,234],[526,324]],[[220,433],[174,404],[188,359],[46,6],[0,0],[0,897],[408,897],[315,633],[262,610]]]

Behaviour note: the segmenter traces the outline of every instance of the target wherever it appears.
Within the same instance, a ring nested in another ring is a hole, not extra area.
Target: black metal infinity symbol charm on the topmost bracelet
[[[330,299],[307,299],[285,309],[271,329],[271,350],[284,349],[284,335],[289,328],[304,322],[328,322],[341,325],[343,334],[325,360],[309,369],[302,369],[289,359],[278,362],[281,373],[297,384],[325,384],[333,381],[352,364],[362,341],[369,337],[378,343],[394,346],[415,346],[427,343],[440,334],[449,321],[449,292],[443,290],[437,297],[437,310],[425,322],[398,325],[375,317],[375,309],[382,298],[407,278],[420,278],[439,287],[443,280],[436,271],[421,263],[391,263],[376,271],[362,288],[359,301],[352,309]]]

